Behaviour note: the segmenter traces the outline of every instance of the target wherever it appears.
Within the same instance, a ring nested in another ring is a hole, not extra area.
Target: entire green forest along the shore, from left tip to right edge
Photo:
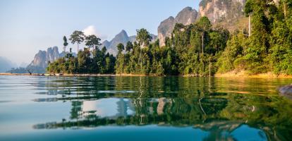
[[[47,73],[94,73],[207,76],[230,71],[292,75],[292,1],[248,0],[249,28],[230,32],[214,28],[207,17],[191,25],[176,24],[164,47],[152,41],[146,29],[137,30],[136,42],[118,44],[118,54],[107,53],[95,35],[75,31],[72,44],[85,42],[75,57],[70,53],[50,62]],[[68,46],[63,37],[64,47]]]

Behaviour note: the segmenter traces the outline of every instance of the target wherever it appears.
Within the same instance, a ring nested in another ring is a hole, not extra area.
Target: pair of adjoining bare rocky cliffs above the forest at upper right
[[[243,18],[243,8],[246,0],[202,0],[199,12],[190,7],[183,8],[176,18],[169,17],[158,27],[160,46],[164,46],[165,37],[171,37],[176,23],[190,25],[202,16],[206,16],[214,25],[229,29],[238,19]],[[277,1],[277,0],[274,0]]]

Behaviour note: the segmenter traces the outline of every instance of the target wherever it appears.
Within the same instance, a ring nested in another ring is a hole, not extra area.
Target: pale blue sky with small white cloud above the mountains
[[[30,63],[39,50],[63,47],[74,30],[111,40],[121,30],[157,35],[162,20],[200,0],[0,0],[0,56]],[[76,45],[69,44],[73,51]]]

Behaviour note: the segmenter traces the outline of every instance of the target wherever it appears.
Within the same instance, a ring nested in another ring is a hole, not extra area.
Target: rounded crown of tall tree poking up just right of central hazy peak
[[[150,36],[150,33],[145,28],[142,28],[140,30],[137,30],[136,39],[140,46],[148,47],[149,43],[152,40],[152,37]]]

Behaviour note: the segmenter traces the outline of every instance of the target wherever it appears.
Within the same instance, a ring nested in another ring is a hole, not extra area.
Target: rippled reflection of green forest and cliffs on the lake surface
[[[205,140],[288,140],[291,101],[279,97],[284,80],[96,77],[47,78],[33,83],[55,95],[35,102],[71,102],[71,116],[35,129],[96,128],[104,125],[192,127]]]

